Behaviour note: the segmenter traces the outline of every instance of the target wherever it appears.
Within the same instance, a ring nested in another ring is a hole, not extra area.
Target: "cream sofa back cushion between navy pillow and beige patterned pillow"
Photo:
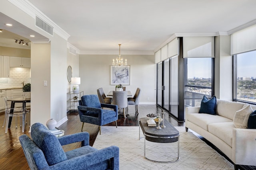
[[[217,99],[216,112],[217,115],[233,120],[236,111],[242,109],[243,107],[243,103]]]

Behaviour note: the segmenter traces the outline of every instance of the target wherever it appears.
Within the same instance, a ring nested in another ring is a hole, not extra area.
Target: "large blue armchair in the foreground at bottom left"
[[[118,170],[119,148],[97,150],[89,146],[89,133],[80,132],[62,137],[54,136],[44,125],[35,123],[31,137],[19,137],[31,170]],[[82,147],[64,152],[62,145],[80,142]]]

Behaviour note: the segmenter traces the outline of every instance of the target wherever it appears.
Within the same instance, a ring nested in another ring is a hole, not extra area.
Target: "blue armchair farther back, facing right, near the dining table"
[[[117,121],[118,119],[118,106],[112,104],[103,104],[100,103],[100,100],[97,95],[85,95],[81,97],[81,100],[78,101],[78,112],[80,116],[80,121],[82,124],[82,131],[84,127],[84,122],[91,123],[94,125],[99,125],[99,130],[101,134],[101,126]],[[102,109],[110,108],[113,110]],[[117,123],[116,123],[117,127]]]

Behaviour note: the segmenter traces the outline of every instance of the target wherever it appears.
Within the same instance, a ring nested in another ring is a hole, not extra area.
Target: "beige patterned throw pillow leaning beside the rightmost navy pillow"
[[[250,105],[236,111],[234,115],[234,125],[236,128],[247,128],[248,119],[250,114],[253,112],[252,107]]]

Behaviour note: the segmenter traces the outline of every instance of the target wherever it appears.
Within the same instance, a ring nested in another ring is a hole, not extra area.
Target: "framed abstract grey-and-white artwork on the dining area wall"
[[[111,85],[130,85],[130,65],[128,66],[110,66],[110,84]]]

